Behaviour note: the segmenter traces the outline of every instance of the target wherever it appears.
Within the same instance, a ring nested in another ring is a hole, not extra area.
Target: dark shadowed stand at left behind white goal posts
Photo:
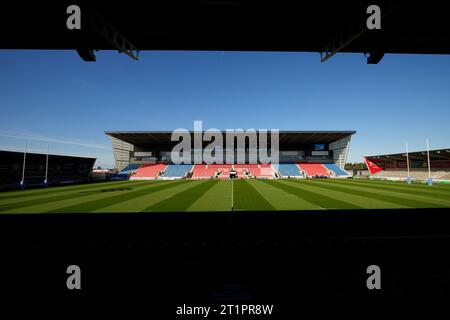
[[[0,189],[17,188],[22,176],[25,186],[87,182],[95,160],[55,154],[0,151]]]

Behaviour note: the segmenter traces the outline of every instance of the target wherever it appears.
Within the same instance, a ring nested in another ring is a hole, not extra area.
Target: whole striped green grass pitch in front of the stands
[[[347,180],[114,181],[0,193],[0,213],[450,207],[450,186]]]

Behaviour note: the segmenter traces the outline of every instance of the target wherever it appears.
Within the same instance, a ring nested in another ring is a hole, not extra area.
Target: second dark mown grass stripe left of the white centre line
[[[168,188],[173,188],[184,181],[164,181],[159,184],[150,184],[149,188],[139,189],[135,191],[130,191],[124,194],[115,194],[111,197],[91,200],[88,202],[83,202],[67,207],[62,207],[54,210],[47,211],[48,213],[67,213],[67,212],[92,212],[95,210],[100,210],[101,208],[111,206],[113,204],[121,203],[123,201],[128,201],[131,199],[135,199],[141,197],[146,194],[155,193],[161,190],[165,190]]]

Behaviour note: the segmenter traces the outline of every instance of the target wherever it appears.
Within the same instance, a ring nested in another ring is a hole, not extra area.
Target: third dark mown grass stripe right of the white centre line
[[[398,196],[393,196],[390,192],[391,191],[384,191],[384,190],[372,190],[369,189],[368,191],[364,191],[365,187],[361,187],[361,186],[336,186],[336,185],[332,185],[327,183],[326,181],[295,181],[293,183],[299,183],[302,185],[307,185],[307,184],[311,184],[311,185],[315,185],[319,188],[323,188],[326,190],[334,190],[334,191],[339,191],[339,192],[344,192],[344,193],[348,193],[348,194],[356,194],[356,195],[360,195],[360,196],[364,196],[367,198],[374,198],[374,199],[378,199],[378,200],[382,200],[382,201],[386,201],[386,202],[391,202],[391,203],[395,203],[395,204],[399,204],[399,205],[403,205],[406,207],[418,207],[418,208],[435,208],[435,207],[442,207],[443,205],[436,205],[436,203],[434,203],[433,201],[420,201],[420,200],[416,200],[410,197],[404,198],[404,197],[398,197]],[[370,193],[369,193],[370,191]]]

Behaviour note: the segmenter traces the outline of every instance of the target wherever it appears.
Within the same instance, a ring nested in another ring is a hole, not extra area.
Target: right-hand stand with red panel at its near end
[[[428,155],[430,166],[428,168]],[[372,177],[406,180],[450,181],[450,148],[416,152],[365,156],[364,161]]]

